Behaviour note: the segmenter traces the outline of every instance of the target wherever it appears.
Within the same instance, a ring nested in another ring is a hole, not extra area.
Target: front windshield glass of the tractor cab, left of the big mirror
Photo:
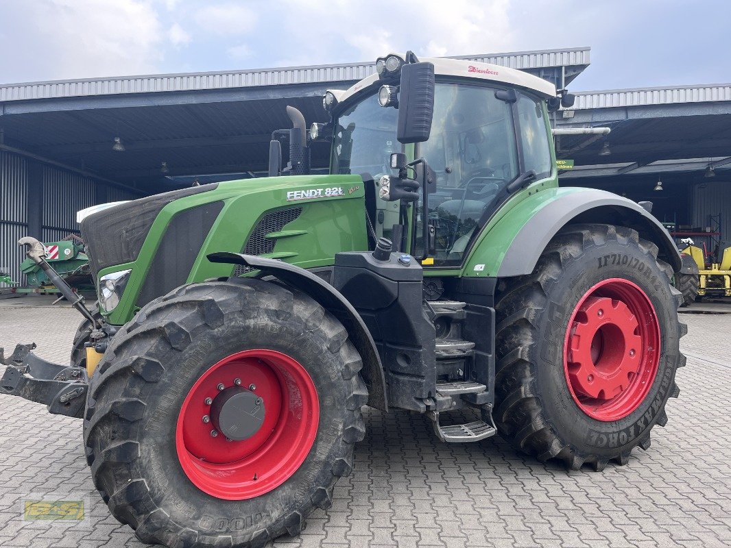
[[[390,155],[401,152],[396,140],[398,110],[384,108],[371,95],[341,113],[335,129],[333,173],[390,173]]]

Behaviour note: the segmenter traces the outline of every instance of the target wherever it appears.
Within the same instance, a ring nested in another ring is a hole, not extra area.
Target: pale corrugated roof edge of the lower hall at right
[[[575,95],[576,102],[572,110],[731,101],[731,84],[668,85],[657,88],[580,91]]]

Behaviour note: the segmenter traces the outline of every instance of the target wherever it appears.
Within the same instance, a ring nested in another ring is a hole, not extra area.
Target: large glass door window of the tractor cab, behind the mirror
[[[436,84],[431,136],[417,151],[436,173],[436,191],[428,197],[428,217],[436,227],[435,266],[461,264],[480,219],[518,176],[511,105],[497,99],[495,91],[482,85]],[[423,250],[421,221],[418,210],[417,256]]]

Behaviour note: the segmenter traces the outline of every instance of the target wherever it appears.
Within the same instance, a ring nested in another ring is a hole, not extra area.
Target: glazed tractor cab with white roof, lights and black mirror
[[[394,240],[424,265],[459,267],[512,194],[537,181],[557,186],[550,83],[410,52],[379,58],[376,71],[327,91],[330,121],[310,130],[331,140],[333,175],[363,176],[374,239]]]

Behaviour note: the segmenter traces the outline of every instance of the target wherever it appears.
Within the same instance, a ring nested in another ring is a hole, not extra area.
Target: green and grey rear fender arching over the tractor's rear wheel
[[[630,199],[597,189],[564,187],[536,192],[511,208],[478,237],[464,276],[528,275],[550,240],[567,224],[616,224],[637,230],[659,248],[675,272],[681,256],[660,222]]]

